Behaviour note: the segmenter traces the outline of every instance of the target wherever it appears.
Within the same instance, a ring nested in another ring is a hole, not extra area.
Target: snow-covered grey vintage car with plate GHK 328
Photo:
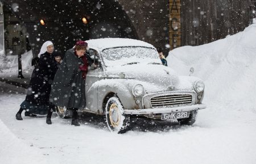
[[[151,44],[106,38],[88,40],[88,47],[95,66],[86,75],[86,108],[80,111],[104,115],[110,131],[126,132],[131,116],[192,125],[206,107],[204,82],[162,65]],[[61,107],[57,113],[70,114]]]

